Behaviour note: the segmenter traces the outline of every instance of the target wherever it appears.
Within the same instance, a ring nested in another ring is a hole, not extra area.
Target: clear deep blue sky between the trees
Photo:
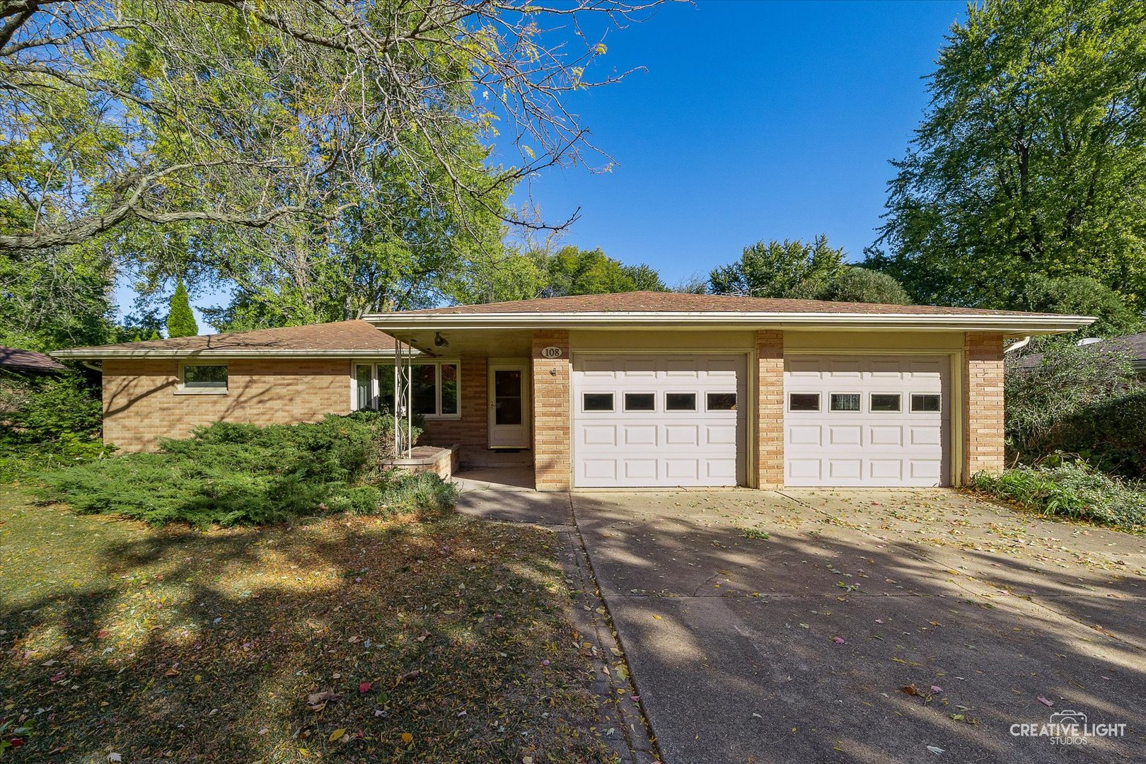
[[[888,159],[927,104],[923,78],[965,14],[939,0],[669,5],[606,38],[602,71],[647,71],[570,101],[617,166],[548,170],[516,202],[528,192],[549,221],[580,207],[565,243],[647,262],[670,285],[758,239],[822,233],[858,259]],[[127,285],[117,297],[131,308]]]

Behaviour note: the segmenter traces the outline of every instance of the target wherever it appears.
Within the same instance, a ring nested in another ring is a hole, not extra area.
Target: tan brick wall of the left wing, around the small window
[[[103,440],[154,450],[212,422],[291,424],[347,413],[351,364],[332,359],[234,359],[226,395],[179,394],[176,359],[103,362]]]

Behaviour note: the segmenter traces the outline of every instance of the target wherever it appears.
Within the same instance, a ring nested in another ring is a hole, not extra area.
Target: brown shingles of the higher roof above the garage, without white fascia
[[[829,302],[824,300],[782,300],[729,294],[683,294],[680,292],[621,292],[574,294],[512,302],[460,305],[448,308],[406,310],[405,315],[450,315],[492,313],[859,313],[871,315],[951,315],[951,316],[1033,316],[1049,314],[1019,310],[981,310],[931,305],[877,305],[873,302]],[[386,315],[386,314],[382,314]]]

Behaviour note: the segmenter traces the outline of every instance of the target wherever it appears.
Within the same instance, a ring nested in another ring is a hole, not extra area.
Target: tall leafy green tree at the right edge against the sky
[[[868,265],[924,302],[1012,307],[1038,273],[1146,306],[1146,5],[972,5],[928,87]]]

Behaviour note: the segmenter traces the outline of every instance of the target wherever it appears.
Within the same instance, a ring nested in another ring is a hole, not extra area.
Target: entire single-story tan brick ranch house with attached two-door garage
[[[104,439],[387,407],[415,348],[422,443],[536,488],[958,486],[1003,467],[1007,339],[1086,316],[630,292],[74,348]],[[397,340],[397,341],[395,341]]]

